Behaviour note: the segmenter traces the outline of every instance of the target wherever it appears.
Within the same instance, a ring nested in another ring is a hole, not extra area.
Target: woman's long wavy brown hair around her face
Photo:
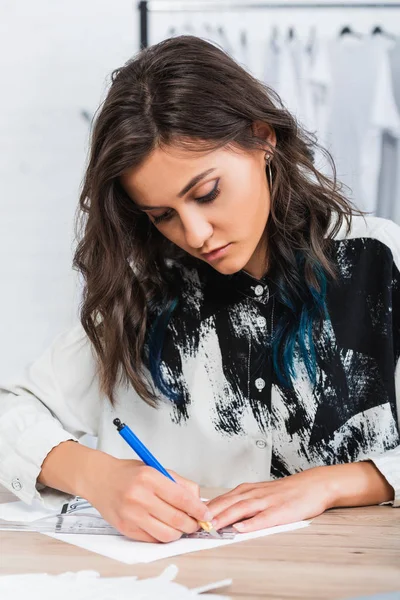
[[[142,50],[111,79],[95,118],[77,215],[73,265],[85,282],[80,318],[111,403],[116,384],[124,382],[155,405],[157,391],[144,367],[149,309],[167,306],[174,296],[166,258],[184,257],[124,191],[120,177],[127,169],[172,143],[201,151],[265,149],[252,125],[261,121],[275,131],[266,235],[268,261],[290,309],[286,335],[297,331],[304,306],[315,305],[322,293],[320,274],[335,278],[329,241],[344,220],[350,225],[353,209],[327,151],[321,148],[332,177],[314,167],[315,136],[272,89],[215,45],[194,36],[167,39]]]

